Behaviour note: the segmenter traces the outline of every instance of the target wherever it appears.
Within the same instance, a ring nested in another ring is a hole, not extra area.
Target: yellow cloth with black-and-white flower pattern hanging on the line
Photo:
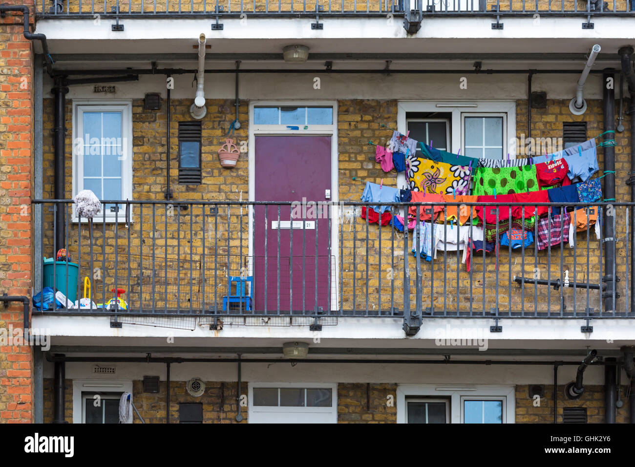
[[[431,159],[411,161],[410,188],[436,194],[467,194],[472,169]]]

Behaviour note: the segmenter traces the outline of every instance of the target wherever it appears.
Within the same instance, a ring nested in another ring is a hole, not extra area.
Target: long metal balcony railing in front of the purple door
[[[457,206],[404,203],[391,205],[389,212],[407,218],[411,208],[420,219],[431,209],[441,210],[446,219],[448,209]],[[59,308],[54,302],[48,310],[34,308],[34,313],[393,316],[404,319],[407,328],[417,328],[425,318],[491,318],[495,327],[502,318],[564,318],[586,320],[588,327],[592,319],[635,317],[629,308],[633,246],[629,219],[635,204],[464,206],[471,217],[479,206],[495,212],[495,222],[487,227],[498,236],[494,234],[490,248],[467,241],[478,238],[473,223],[432,224],[430,233],[419,224],[400,233],[391,225],[380,227],[362,219],[363,203],[311,207],[311,203],[103,201],[102,212],[89,223],[74,218],[70,201],[35,200],[36,225],[41,224],[36,232],[36,254],[41,255],[35,261],[36,276],[42,278],[42,285],[62,290],[72,300],[84,295],[91,300],[88,308]],[[615,234],[605,238],[599,229],[598,238],[594,226],[586,225],[573,234],[572,244],[566,235],[568,224],[550,227],[545,237],[544,225],[525,215],[521,222],[533,243],[510,250],[501,245],[501,238],[507,234],[513,239],[514,227],[503,219],[514,219],[512,212],[518,212],[519,206],[526,206],[527,213],[547,206],[550,215],[569,209],[573,226],[580,224],[582,213],[597,210],[598,222],[603,222],[606,212],[612,224],[608,232]],[[58,219],[64,219],[64,245],[58,245],[53,234]],[[542,250],[537,248],[538,238]],[[436,249],[431,249],[433,245]],[[614,258],[608,266],[605,247]],[[50,258],[60,248],[65,248],[70,262],[55,263],[58,272],[53,274]],[[90,291],[84,291],[84,277],[91,283]],[[111,301],[117,288],[124,289],[125,305]]]

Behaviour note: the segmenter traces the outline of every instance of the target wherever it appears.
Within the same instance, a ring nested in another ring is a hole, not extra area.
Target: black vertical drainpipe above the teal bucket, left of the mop
[[[65,110],[66,110],[66,93],[69,88],[64,86],[64,78],[55,78],[55,87],[51,93],[55,95],[55,126],[53,128],[53,147],[55,149],[55,199],[66,199],[65,172],[66,172],[66,155],[65,155]],[[58,203],[55,214],[55,245],[57,248],[64,248],[64,226],[65,222],[65,205]],[[55,255],[55,252],[53,252]]]

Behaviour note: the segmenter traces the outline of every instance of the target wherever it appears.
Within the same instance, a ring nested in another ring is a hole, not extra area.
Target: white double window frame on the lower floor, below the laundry
[[[406,397],[423,396],[449,397],[451,423],[463,423],[464,400],[502,400],[503,423],[516,423],[516,388],[489,384],[399,384],[397,423],[406,423]]]

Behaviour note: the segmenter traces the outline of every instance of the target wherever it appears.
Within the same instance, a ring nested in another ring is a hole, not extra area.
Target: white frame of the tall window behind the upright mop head
[[[133,199],[133,173],[132,173],[132,101],[131,100],[73,100],[73,142],[77,138],[83,138],[83,114],[86,111],[97,112],[121,112],[121,138],[122,149],[125,157],[122,159],[121,164],[121,200]],[[72,145],[72,194],[75,196],[79,191],[84,188],[84,158],[76,154],[75,144]],[[118,220],[120,224],[126,222],[125,213],[119,212],[115,216],[114,212],[105,213],[105,221],[107,223],[115,222]],[[130,209],[128,214],[128,222],[131,222],[133,215]],[[85,219],[84,219],[85,220]],[[79,222],[77,213],[73,208],[72,222]],[[93,217],[93,222],[104,222],[104,214],[99,213]]]

